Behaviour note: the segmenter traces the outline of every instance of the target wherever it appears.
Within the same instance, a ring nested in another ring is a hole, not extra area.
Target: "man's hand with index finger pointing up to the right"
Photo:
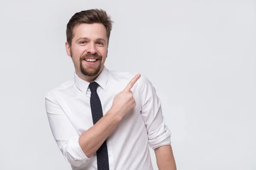
[[[136,106],[136,102],[133,98],[131,88],[133,87],[135,82],[137,82],[140,76],[140,74],[137,74],[133,79],[131,79],[125,89],[119,94],[116,94],[113,99],[111,109],[114,112],[118,113],[121,117],[125,116],[126,113],[131,111]]]

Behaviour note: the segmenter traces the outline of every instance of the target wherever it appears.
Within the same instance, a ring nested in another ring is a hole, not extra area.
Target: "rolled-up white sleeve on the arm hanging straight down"
[[[171,131],[165,125],[159,97],[152,83],[141,76],[140,84],[141,114],[148,131],[148,144],[154,150],[157,147],[171,144]]]

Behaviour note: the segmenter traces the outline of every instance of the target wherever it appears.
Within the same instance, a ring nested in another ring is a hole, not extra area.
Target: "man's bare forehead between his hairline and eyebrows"
[[[87,37],[90,39],[103,38],[107,40],[107,31],[102,23],[86,24],[81,23],[74,27],[73,29],[74,40],[81,37]]]

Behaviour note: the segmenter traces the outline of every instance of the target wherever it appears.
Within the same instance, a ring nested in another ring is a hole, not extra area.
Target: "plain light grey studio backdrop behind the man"
[[[65,51],[70,17],[102,8],[115,22],[105,65],[153,83],[177,169],[256,170],[255,7],[252,0],[1,1],[0,169],[71,169],[50,131],[44,94],[74,75]],[[151,157],[157,170],[153,150]]]

